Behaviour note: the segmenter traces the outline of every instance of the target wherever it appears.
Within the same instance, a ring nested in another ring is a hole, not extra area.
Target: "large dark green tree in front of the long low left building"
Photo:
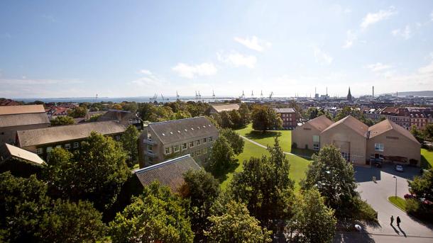
[[[50,154],[46,180],[54,195],[72,200],[90,200],[104,210],[116,201],[121,185],[131,171],[119,142],[92,132],[73,154],[56,148]]]

